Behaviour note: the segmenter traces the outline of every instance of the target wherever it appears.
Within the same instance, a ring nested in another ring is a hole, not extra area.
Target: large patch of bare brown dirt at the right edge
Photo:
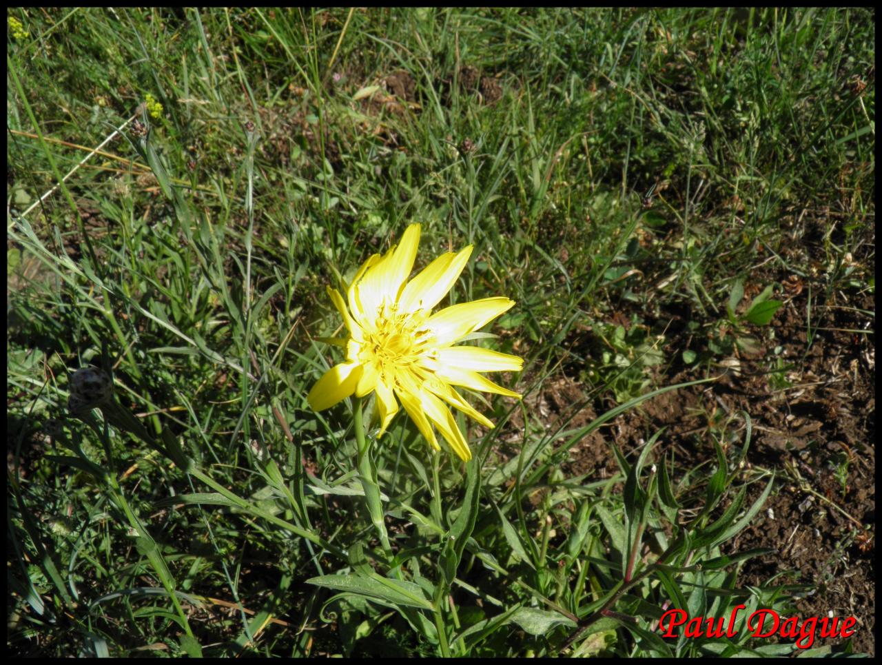
[[[762,354],[723,363],[722,376],[714,383],[659,395],[618,416],[573,449],[565,471],[605,477],[615,469],[606,439],[615,437],[632,455],[662,427],[656,459],[673,451],[685,470],[714,460],[712,434],[722,434],[724,445],[742,445],[744,418],[739,414],[746,412],[752,440],[745,461],[773,469],[775,484],[762,512],[728,543],[727,551],[769,548],[774,554],[746,562],[740,586],[759,585],[784,573],[776,584],[818,587],[796,601],[799,615],[855,616],[853,649],[874,654],[875,355],[873,319],[865,313],[875,310],[873,298],[836,289],[824,302],[818,298],[825,293],[818,279],[811,284],[814,296],[809,303],[810,289],[795,288],[793,276],[751,279],[754,290],[774,281],[784,289],[780,297],[785,304],[770,325],[774,338],[764,338]],[[811,320],[806,316],[810,304]],[[639,313],[647,318],[646,312]],[[683,312],[662,307],[662,314],[648,321],[659,328],[668,326],[665,357],[679,359],[684,349],[695,348],[691,333],[677,323],[683,318]],[[768,328],[751,333],[767,335]],[[777,355],[774,347],[781,347]],[[775,365],[779,358],[781,365]],[[656,385],[702,378],[703,372],[671,367]],[[570,379],[549,383],[534,397],[549,427],[585,399]],[[589,422],[613,406],[589,401],[572,422]],[[747,504],[764,488],[765,483],[754,483]]]

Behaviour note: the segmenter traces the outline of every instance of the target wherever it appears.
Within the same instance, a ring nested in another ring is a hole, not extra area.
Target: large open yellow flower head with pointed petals
[[[398,412],[400,400],[432,448],[440,450],[434,425],[460,459],[471,460],[472,452],[446,405],[485,427],[493,423],[453,386],[520,398],[478,372],[519,371],[524,361],[487,348],[453,345],[511,309],[514,301],[483,298],[432,314],[459,279],[472,246],[441,255],[408,282],[419,243],[420,225],[412,224],[400,245],[365,261],[349,285],[348,308],[336,289],[327,289],[349,333],[344,340],[347,359],[326,371],[307,399],[310,407],[321,411],[353,393],[364,397],[376,392],[380,435]]]

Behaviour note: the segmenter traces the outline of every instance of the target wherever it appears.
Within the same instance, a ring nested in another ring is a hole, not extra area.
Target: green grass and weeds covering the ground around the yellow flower
[[[792,650],[651,626],[666,600],[786,607],[721,550],[761,507],[744,489],[771,489],[737,467],[749,420],[729,422],[735,446],[709,437],[703,465],[602,430],[617,473],[585,477],[566,473],[571,450],[603,418],[570,428],[575,404],[549,430],[531,396],[575,377],[630,411],[686,360],[717,376],[719,345],[671,348],[662,310],[722,337],[765,262],[827,293],[874,288],[850,258],[875,211],[871,12],[10,17],[27,33],[7,45],[11,650]],[[790,250],[822,208],[815,265]],[[319,341],[340,327],[325,284],[412,221],[418,265],[475,244],[452,302],[516,300],[490,330],[527,369],[505,384],[525,400],[489,400],[497,428],[470,430],[479,464],[431,455],[404,416],[375,446],[390,562],[350,408],[317,415],[305,395],[340,359]],[[67,377],[89,364],[112,370],[144,437],[70,417]],[[377,577],[426,596],[407,605]]]

